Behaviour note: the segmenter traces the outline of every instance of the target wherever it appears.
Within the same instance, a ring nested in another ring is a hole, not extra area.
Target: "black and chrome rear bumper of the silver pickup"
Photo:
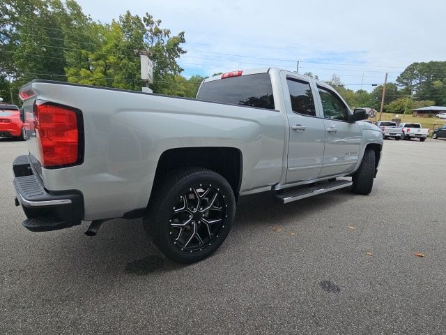
[[[32,232],[59,230],[79,225],[84,216],[82,194],[78,191],[49,192],[31,168],[28,156],[13,162],[16,205],[22,205],[26,220],[22,225]]]

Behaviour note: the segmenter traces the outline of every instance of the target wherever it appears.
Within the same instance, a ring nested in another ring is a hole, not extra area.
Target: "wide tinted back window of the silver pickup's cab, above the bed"
[[[275,109],[271,78],[268,73],[205,82],[201,85],[197,99]]]

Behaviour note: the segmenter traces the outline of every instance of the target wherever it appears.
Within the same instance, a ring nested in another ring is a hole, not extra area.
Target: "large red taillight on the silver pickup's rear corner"
[[[79,163],[79,129],[74,110],[48,103],[36,104],[36,137],[44,168]]]

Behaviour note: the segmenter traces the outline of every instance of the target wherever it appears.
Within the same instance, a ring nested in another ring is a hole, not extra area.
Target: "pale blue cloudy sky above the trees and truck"
[[[126,10],[185,31],[183,75],[277,66],[336,73],[349,89],[394,82],[415,61],[446,61],[444,0],[77,0],[93,20]]]

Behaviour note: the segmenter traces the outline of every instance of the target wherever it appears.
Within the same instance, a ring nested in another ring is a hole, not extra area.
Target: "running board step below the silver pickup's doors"
[[[327,193],[330,191],[338,190],[339,188],[344,188],[351,186],[351,180],[336,180],[327,181],[319,184],[313,184],[312,186],[302,186],[299,188],[289,188],[281,191],[277,191],[275,195],[282,203],[287,204],[295,200],[300,200],[303,198],[309,198],[313,195],[318,195],[322,193]]]

